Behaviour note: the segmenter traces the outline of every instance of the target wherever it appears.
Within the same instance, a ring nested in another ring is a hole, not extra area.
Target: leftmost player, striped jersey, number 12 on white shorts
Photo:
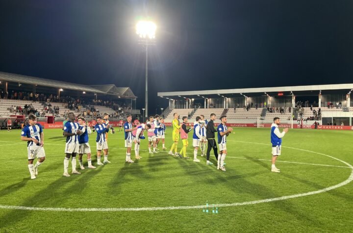
[[[34,115],[29,115],[29,125],[26,125],[21,132],[21,140],[27,141],[27,152],[28,152],[28,169],[31,175],[31,179],[36,179],[38,175],[38,167],[45,160],[44,152],[44,133],[42,126],[37,124],[37,118]],[[34,158],[38,160],[33,167]]]

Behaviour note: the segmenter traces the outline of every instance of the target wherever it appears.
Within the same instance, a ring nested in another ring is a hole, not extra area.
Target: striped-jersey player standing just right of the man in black
[[[231,131],[233,131],[232,128],[227,129],[227,116],[223,115],[221,116],[221,121],[222,123],[218,125],[217,131],[218,131],[218,145],[220,148],[220,155],[218,155],[218,161],[217,161],[217,169],[221,169],[222,171],[226,171],[226,168],[224,167],[224,160],[227,155],[227,136]]]

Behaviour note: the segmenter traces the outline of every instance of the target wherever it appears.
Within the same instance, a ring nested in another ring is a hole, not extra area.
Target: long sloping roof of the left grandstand
[[[114,84],[110,85],[84,85],[72,82],[64,82],[58,80],[51,80],[46,78],[37,78],[32,76],[10,74],[0,72],[0,80],[8,82],[36,84],[45,87],[63,88],[75,91],[92,92],[103,95],[116,95],[119,98],[137,98],[129,87],[116,87]]]

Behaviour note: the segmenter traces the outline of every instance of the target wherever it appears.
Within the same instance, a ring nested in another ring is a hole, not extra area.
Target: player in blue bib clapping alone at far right
[[[280,172],[276,167],[276,159],[281,152],[282,137],[288,132],[288,128],[283,129],[282,132],[279,131],[278,125],[280,124],[279,117],[274,118],[274,123],[271,126],[271,143],[272,143],[272,166],[271,172]]]

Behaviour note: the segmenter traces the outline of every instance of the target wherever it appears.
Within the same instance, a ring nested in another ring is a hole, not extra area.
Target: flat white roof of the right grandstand
[[[347,94],[353,89],[353,83],[347,84],[328,84],[328,85],[308,85],[308,86],[281,86],[281,87],[259,87],[259,88],[239,88],[239,89],[221,89],[221,90],[204,90],[204,91],[175,91],[175,92],[158,92],[159,97],[172,97],[173,99],[187,98],[216,98],[224,96],[227,98],[241,97],[246,95],[263,96],[265,93],[273,96],[274,94],[282,92],[284,95],[295,96],[313,96],[322,94]],[[271,95],[272,94],[272,95]]]

